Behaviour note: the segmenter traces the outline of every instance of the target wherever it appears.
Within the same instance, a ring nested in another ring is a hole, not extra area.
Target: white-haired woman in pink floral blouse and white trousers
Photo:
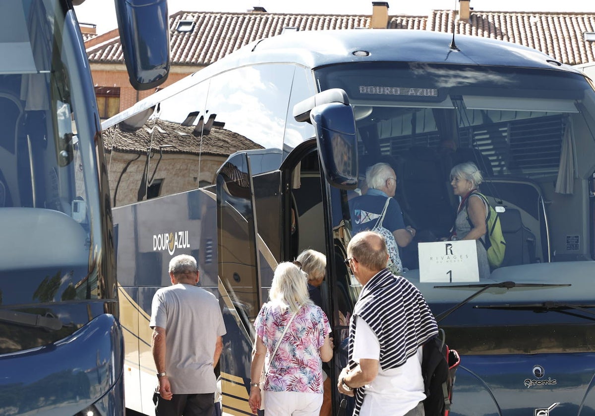
[[[252,352],[249,399],[254,414],[261,405],[258,383],[265,356],[267,414],[289,416],[299,412],[303,416],[318,416],[320,412],[322,361],[333,358],[333,345],[327,316],[308,296],[307,279],[296,264],[278,264],[269,293],[271,301],[262,305],[254,322],[256,345]],[[287,323],[289,327],[280,339]],[[269,363],[277,343],[277,352]]]

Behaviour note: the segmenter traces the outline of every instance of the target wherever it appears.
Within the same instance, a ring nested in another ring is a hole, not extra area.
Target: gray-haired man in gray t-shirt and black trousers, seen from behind
[[[199,279],[196,260],[181,254],[170,261],[171,286],[153,297],[152,352],[159,392],[156,416],[212,416],[215,403],[214,366],[226,333],[219,302]]]

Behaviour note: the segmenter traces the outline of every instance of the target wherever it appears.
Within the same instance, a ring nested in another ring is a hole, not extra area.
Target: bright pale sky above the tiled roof
[[[431,10],[458,8],[458,0],[388,0],[389,15],[428,15]],[[168,12],[246,12],[254,6],[271,13],[372,14],[371,0],[168,0]],[[593,0],[471,0],[475,11],[536,11],[595,13]],[[117,26],[114,0],[86,0],[74,7],[80,23],[96,24],[97,33]]]

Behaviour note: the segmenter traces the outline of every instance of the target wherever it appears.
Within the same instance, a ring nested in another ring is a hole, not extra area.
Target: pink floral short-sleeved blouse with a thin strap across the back
[[[267,346],[267,368],[278,338],[292,317],[271,302],[262,305],[254,322],[256,335]],[[285,333],[268,370],[265,390],[273,392],[322,393],[320,347],[331,332],[328,318],[316,305],[303,305]]]

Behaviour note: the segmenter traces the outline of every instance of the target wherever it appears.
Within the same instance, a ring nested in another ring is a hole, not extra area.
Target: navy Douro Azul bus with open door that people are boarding
[[[180,253],[197,257],[199,284],[224,312],[223,414],[250,414],[253,320],[275,265],[305,248],[328,259],[336,379],[359,292],[343,263],[350,200],[367,167],[386,162],[417,229],[403,276],[462,357],[450,416],[595,412],[593,81],[533,49],[455,41],[410,30],[281,34],[104,123],[127,404],[153,412],[151,298]],[[464,161],[483,172],[505,258],[487,279],[432,282],[419,253],[449,235],[459,202],[449,172]],[[333,402],[336,412],[336,392]]]

